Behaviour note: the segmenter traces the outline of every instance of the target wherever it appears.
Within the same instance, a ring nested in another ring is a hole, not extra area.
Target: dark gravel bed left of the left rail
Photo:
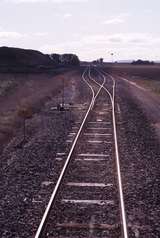
[[[59,163],[56,160],[57,157],[63,157],[58,156],[58,153],[67,153],[69,150],[70,144],[65,143],[69,131],[75,121],[82,120],[87,108],[83,103],[88,101],[89,94],[84,97],[83,93],[79,93],[87,90],[80,75],[80,72],[74,73],[64,90],[65,102],[72,103],[72,108],[66,111],[53,109],[61,101],[61,95],[57,92],[39,113],[27,120],[26,143],[21,145],[22,128],[19,128],[1,154],[2,238],[26,238],[35,235],[64,164],[64,161]]]

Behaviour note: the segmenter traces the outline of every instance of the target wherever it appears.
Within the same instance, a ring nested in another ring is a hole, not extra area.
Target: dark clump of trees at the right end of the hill
[[[80,60],[75,54],[51,54],[50,58],[56,65],[60,66],[76,66],[80,64]]]

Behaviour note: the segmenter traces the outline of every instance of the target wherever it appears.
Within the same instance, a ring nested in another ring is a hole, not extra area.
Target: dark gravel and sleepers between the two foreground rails
[[[91,126],[90,122],[96,124]],[[103,124],[106,122],[110,124]],[[94,127],[103,128],[103,132],[100,129],[95,131]],[[77,142],[54,208],[51,210],[47,221],[46,232],[42,237],[120,237],[119,198],[112,128],[110,100],[106,92],[103,91],[87,119],[80,140]],[[106,133],[107,135],[105,135]],[[88,140],[102,140],[103,143],[90,144]],[[111,144],[107,144],[106,141],[111,142]],[[83,156],[84,154],[85,156]],[[97,160],[85,161],[88,158],[94,159],[92,154],[97,154],[95,156]],[[100,158],[104,160],[99,161]],[[82,159],[82,161],[77,159]],[[108,186],[105,188],[87,187],[86,185],[81,187],[67,185],[68,183],[103,183]],[[82,202],[83,200],[84,202]],[[90,200],[96,201],[96,204],[90,204]],[[85,201],[89,201],[89,203]],[[94,228],[94,226],[103,225],[107,228]]]

